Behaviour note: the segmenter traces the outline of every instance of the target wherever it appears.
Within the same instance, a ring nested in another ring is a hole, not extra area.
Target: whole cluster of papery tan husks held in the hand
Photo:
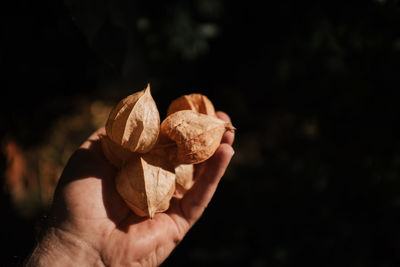
[[[210,158],[223,134],[234,129],[215,116],[213,104],[202,94],[172,101],[160,124],[148,85],[113,108],[101,144],[119,170],[119,194],[137,215],[152,218],[168,209],[175,190],[191,188],[193,164]]]

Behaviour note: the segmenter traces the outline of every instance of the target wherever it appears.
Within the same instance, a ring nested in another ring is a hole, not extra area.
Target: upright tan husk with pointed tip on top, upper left
[[[107,136],[132,152],[152,149],[160,132],[160,115],[151,96],[150,85],[121,100],[110,112]]]

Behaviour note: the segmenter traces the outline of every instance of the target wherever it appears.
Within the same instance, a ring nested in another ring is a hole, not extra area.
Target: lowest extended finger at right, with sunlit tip
[[[201,177],[182,198],[182,215],[189,223],[189,226],[193,225],[204,212],[233,154],[234,151],[230,145],[221,144],[214,155],[207,161]]]

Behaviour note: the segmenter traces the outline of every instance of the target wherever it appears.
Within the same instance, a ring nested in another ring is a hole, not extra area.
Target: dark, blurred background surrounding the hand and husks
[[[164,266],[400,263],[399,1],[9,2],[2,140],[43,146],[80,105],[148,82],[161,116],[193,92],[231,116],[233,162]],[[47,209],[21,215],[2,184],[8,266]]]

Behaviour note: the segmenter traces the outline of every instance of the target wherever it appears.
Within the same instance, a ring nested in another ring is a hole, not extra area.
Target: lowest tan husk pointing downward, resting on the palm
[[[169,208],[175,191],[174,169],[159,155],[135,155],[118,172],[116,187],[134,213],[153,218]]]

